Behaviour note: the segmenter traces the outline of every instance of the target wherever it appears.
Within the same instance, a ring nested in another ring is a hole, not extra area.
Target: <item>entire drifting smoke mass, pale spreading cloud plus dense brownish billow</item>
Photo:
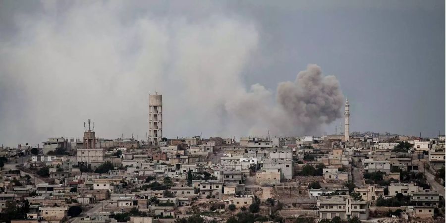
[[[340,116],[342,94],[316,65],[277,93],[244,85],[259,31],[223,14],[190,19],[122,2],[45,1],[0,42],[0,143],[147,132],[148,94],[163,94],[167,137],[312,134]],[[133,16],[133,12],[143,11]],[[63,13],[62,13],[63,11]],[[276,96],[275,96],[276,95]]]

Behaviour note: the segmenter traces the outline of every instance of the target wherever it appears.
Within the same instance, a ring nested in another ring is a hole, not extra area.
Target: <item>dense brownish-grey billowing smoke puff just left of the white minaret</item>
[[[314,132],[341,117],[343,98],[335,76],[322,76],[321,67],[309,64],[296,80],[279,83],[277,101],[294,124]]]

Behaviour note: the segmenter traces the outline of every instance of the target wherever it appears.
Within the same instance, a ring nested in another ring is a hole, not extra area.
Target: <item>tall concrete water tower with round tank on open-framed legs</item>
[[[149,144],[159,145],[163,138],[163,96],[149,95]]]

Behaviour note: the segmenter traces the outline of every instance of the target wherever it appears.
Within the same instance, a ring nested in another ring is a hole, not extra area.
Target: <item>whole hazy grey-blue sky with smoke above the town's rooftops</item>
[[[350,132],[445,134],[445,1],[0,0],[0,144],[142,139],[155,91],[169,138],[334,133],[342,96]]]

